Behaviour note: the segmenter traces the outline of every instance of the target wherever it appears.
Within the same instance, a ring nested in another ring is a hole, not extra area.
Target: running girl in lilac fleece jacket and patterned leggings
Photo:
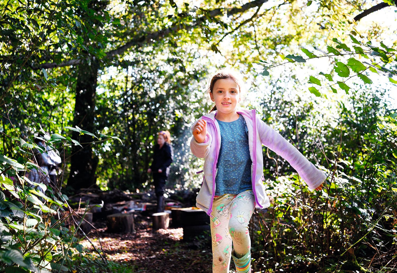
[[[210,79],[215,107],[191,127],[191,152],[204,158],[204,181],[196,206],[211,217],[212,272],[251,272],[249,221],[255,208],[268,208],[263,177],[262,144],[283,158],[310,189],[321,190],[326,175],[291,143],[265,124],[255,110],[239,109],[241,76],[221,69]]]

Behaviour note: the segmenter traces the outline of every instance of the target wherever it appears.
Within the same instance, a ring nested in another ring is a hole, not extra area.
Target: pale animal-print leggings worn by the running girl
[[[252,190],[214,198],[211,213],[212,273],[228,273],[231,257],[237,273],[251,272],[248,224],[254,206]]]

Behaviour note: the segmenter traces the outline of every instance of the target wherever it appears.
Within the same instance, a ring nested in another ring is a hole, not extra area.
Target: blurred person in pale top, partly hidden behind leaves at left
[[[46,145],[44,140],[40,138],[35,138],[35,143],[40,147],[44,148],[44,152],[41,153],[42,160],[40,167],[48,168],[48,177],[53,186],[57,185],[57,168],[58,165],[62,162],[60,156],[57,154],[54,148],[51,148]]]

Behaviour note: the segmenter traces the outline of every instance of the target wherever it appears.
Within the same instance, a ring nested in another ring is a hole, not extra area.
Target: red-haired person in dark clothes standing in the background
[[[148,169],[152,173],[154,190],[157,198],[157,212],[164,212],[164,188],[166,186],[170,165],[172,163],[173,150],[171,135],[168,131],[157,133],[157,144],[154,145],[153,162]]]

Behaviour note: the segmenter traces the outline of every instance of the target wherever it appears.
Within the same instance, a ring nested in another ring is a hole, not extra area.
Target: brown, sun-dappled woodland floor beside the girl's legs
[[[105,222],[95,222],[94,226],[97,231],[91,231],[90,236],[94,246],[108,260],[131,263],[136,272],[212,272],[210,235],[185,241],[182,228],[153,231],[151,218],[141,215],[135,216],[135,233],[131,234],[107,233]],[[89,251],[95,251],[88,240],[83,240],[82,244]]]

